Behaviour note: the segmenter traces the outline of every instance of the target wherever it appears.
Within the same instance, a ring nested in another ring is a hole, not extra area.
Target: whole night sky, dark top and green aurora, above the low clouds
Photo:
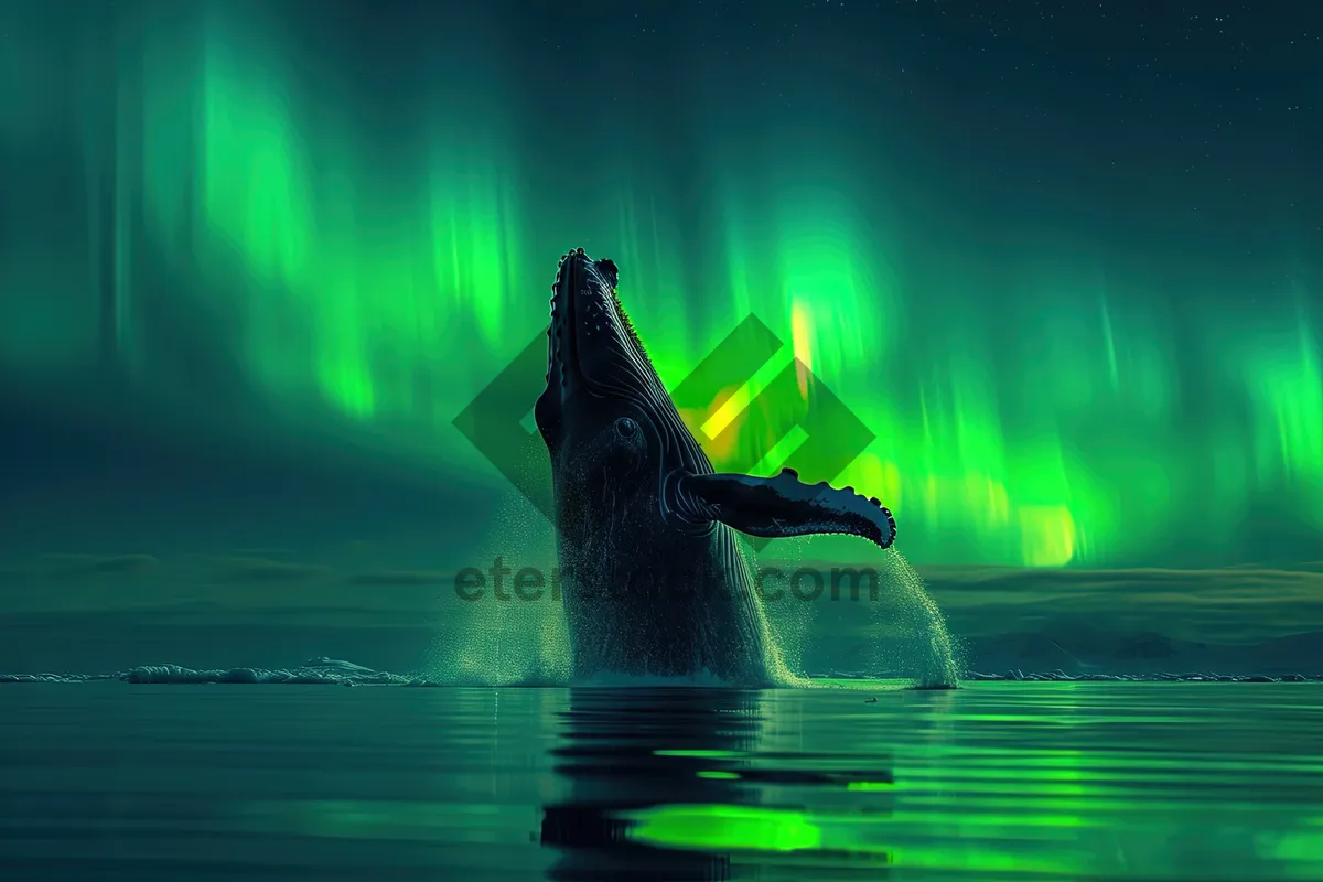
[[[916,562],[1323,557],[1316,34],[635,5],[0,4],[4,383],[504,493],[451,421],[582,245],[668,383],[786,340]]]

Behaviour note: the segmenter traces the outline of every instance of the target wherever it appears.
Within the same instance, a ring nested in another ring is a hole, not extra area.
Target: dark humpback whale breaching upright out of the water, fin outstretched
[[[583,249],[561,258],[533,407],[552,461],[572,676],[783,682],[734,532],[843,533],[886,549],[896,521],[877,499],[790,469],[716,473],[620,305],[618,276]]]

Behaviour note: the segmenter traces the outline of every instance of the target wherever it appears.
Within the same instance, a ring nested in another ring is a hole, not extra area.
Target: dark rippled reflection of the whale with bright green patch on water
[[[765,750],[763,705],[779,694],[573,690],[560,714],[565,743],[553,750],[569,799],[548,805],[542,821],[542,845],[562,853],[549,878],[691,882],[736,878],[749,865],[802,873],[804,863],[833,877],[876,874],[886,850],[864,840],[832,848],[802,791],[815,793],[818,811],[848,795],[860,819],[886,813],[885,755]]]

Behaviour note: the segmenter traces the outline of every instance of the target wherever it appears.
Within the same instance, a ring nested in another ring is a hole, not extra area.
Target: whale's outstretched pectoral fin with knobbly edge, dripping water
[[[884,549],[896,541],[896,518],[880,501],[851,487],[804,484],[789,468],[775,477],[685,475],[683,487],[713,520],[749,536],[848,533]]]

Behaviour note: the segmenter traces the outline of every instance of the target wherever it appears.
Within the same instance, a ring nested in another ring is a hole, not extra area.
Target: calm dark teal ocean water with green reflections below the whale
[[[0,686],[0,878],[1323,879],[1316,684]]]

